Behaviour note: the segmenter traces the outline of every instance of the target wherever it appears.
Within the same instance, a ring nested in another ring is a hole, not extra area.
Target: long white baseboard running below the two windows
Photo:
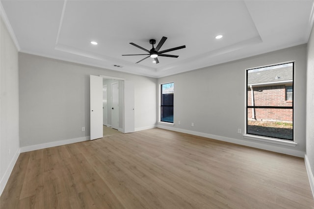
[[[254,148],[259,148],[259,149],[264,149],[272,152],[278,152],[282,154],[287,154],[287,155],[292,155],[300,158],[304,158],[305,152],[299,151],[299,150],[294,150],[294,149],[288,149],[285,147],[280,147],[278,146],[273,146],[269,144],[265,144],[267,142],[259,142],[259,141],[249,141],[248,139],[233,139],[233,138],[228,138],[228,137],[222,137],[222,136],[217,136],[217,135],[212,135],[212,134],[206,134],[202,132],[196,132],[196,131],[190,131],[190,130],[185,130],[185,129],[180,129],[180,128],[175,128],[172,126],[167,126],[167,125],[162,125],[158,124],[157,128],[162,128],[162,129],[167,129],[171,131],[177,131],[185,134],[191,134],[195,136],[200,136],[200,137],[206,137],[209,139],[216,139],[216,140],[221,140],[221,141],[226,141],[226,142],[231,142],[235,144],[240,144],[244,146],[249,146],[249,147],[254,147]]]

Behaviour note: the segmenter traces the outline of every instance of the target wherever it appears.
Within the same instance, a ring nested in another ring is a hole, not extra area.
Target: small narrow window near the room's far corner
[[[160,121],[173,123],[174,83],[161,84]]]

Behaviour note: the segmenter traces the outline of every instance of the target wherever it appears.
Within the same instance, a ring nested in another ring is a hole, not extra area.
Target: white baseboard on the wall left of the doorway
[[[88,137],[80,137],[80,138],[75,138],[75,139],[66,139],[66,140],[61,140],[61,141],[52,141],[52,142],[43,143],[43,144],[35,144],[35,145],[25,146],[25,147],[21,147],[21,153],[22,152],[29,152],[29,151],[33,151],[33,150],[38,150],[38,149],[54,147],[54,146],[65,145],[65,144],[72,144],[72,143],[81,142],[81,141],[87,141],[89,139],[90,139],[90,137],[88,136]]]

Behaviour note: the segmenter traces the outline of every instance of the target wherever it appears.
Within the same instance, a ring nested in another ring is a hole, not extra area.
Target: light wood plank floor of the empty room
[[[304,160],[150,129],[21,153],[1,209],[313,209]]]

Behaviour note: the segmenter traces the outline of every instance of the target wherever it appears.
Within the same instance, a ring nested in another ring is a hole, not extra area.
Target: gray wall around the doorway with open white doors
[[[156,125],[157,79],[20,53],[21,147],[90,135],[90,74],[132,81],[135,130]]]

